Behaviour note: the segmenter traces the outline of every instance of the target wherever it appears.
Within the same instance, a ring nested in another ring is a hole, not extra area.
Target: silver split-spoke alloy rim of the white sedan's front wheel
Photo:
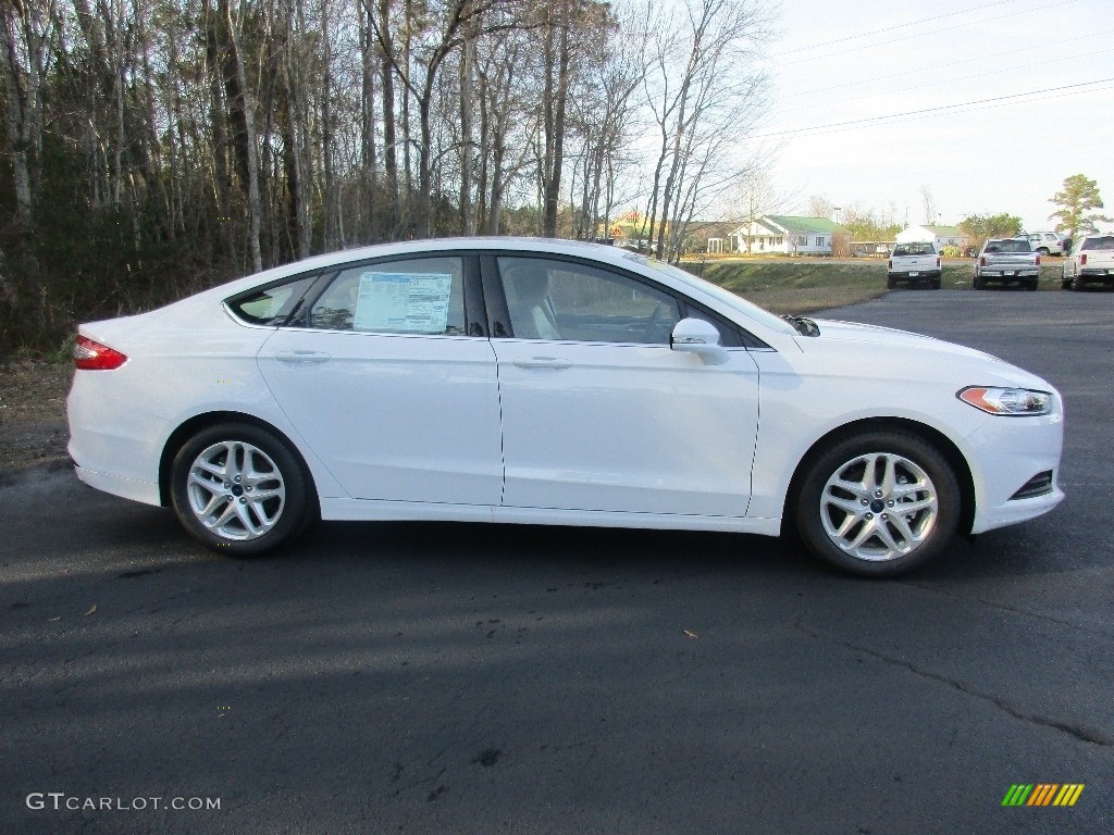
[[[820,519],[832,544],[870,562],[915,551],[932,533],[939,512],[928,473],[892,452],[847,461],[820,493]]]

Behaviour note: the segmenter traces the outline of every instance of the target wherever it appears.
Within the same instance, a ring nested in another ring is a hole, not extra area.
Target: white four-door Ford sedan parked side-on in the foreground
[[[427,519],[794,532],[895,576],[1063,499],[1044,380],[592,244],[325,255],[81,325],[75,354],[81,480],[234,554]]]

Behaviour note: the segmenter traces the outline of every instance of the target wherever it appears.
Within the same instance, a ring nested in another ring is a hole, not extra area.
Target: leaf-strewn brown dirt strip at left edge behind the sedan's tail
[[[0,481],[35,466],[65,466],[70,363],[0,364]]]

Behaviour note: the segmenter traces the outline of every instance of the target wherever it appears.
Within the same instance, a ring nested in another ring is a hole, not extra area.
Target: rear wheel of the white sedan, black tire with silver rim
[[[192,479],[195,469],[198,479]],[[222,469],[228,473],[223,483]],[[211,426],[182,445],[170,466],[170,501],[194,538],[234,557],[254,557],[289,542],[316,518],[317,509],[297,454],[273,433],[247,423]]]

